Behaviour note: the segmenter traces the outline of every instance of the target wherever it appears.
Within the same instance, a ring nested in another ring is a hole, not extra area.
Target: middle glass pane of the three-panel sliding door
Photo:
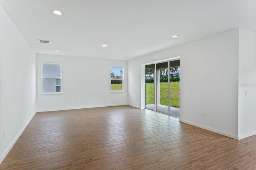
[[[156,110],[168,114],[168,62],[156,64]]]

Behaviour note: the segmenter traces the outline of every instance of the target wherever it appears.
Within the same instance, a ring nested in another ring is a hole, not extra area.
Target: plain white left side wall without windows
[[[2,7],[0,12],[0,162],[2,162],[36,113],[36,54]]]

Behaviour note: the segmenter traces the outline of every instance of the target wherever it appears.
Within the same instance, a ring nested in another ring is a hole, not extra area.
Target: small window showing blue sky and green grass
[[[124,67],[111,67],[111,92],[124,91]]]

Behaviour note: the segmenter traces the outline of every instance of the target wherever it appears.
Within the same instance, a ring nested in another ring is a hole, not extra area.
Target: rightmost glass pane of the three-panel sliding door
[[[170,61],[170,114],[180,116],[180,66]]]

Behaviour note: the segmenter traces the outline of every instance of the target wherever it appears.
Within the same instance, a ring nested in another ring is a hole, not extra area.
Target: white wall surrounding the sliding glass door
[[[142,64],[180,56],[180,121],[238,138],[238,31],[232,29],[128,61],[129,104],[145,105]]]

